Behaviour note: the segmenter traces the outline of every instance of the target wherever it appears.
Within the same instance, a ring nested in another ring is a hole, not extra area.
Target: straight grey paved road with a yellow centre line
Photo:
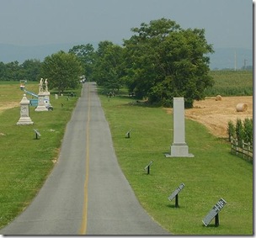
[[[96,85],[85,83],[51,175],[3,235],[168,235],[141,208],[116,160]]]

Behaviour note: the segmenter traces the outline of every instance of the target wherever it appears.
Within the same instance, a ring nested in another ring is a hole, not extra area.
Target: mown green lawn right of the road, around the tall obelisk
[[[173,142],[173,117],[164,108],[132,104],[130,98],[100,96],[115,152],[125,177],[153,219],[176,235],[253,235],[253,165],[233,156],[226,140],[186,120],[186,142],[194,158],[166,158]],[[125,133],[131,130],[131,138]],[[144,167],[153,161],[147,175]],[[179,208],[168,196],[184,182]],[[224,198],[220,226],[202,219]]]

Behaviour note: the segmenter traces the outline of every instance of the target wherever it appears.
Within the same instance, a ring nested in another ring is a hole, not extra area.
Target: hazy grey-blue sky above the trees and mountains
[[[161,18],[204,28],[215,48],[253,49],[252,0],[1,0],[0,43],[121,44],[132,27]]]

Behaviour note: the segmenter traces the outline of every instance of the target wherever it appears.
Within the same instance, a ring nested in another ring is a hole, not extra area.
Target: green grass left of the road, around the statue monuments
[[[29,84],[28,90],[38,92],[38,84]],[[0,85],[1,104],[20,102],[22,96],[19,83]],[[33,107],[30,108],[33,125],[16,125],[19,107],[6,109],[0,114],[0,228],[29,204],[45,182],[56,162],[76,102],[77,98],[67,101],[67,97],[60,97],[56,100],[51,95],[53,111],[35,112]],[[33,129],[40,131],[40,140],[35,140]]]

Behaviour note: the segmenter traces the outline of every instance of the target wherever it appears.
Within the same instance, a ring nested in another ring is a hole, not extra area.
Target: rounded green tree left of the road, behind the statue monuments
[[[48,78],[49,88],[56,88],[59,94],[77,88],[82,73],[83,67],[77,56],[62,50],[45,57],[41,67],[41,77]]]

